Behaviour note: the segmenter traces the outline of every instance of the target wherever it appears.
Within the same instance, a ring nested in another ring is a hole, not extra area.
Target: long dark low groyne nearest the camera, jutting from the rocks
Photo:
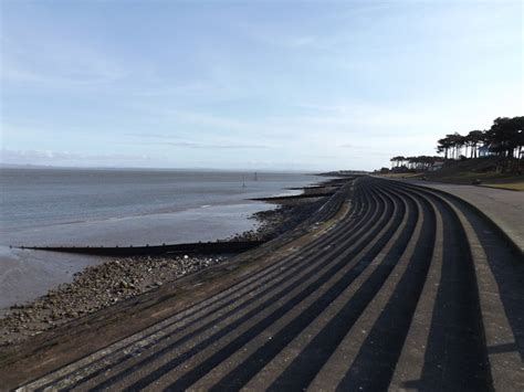
[[[96,256],[146,256],[166,254],[240,253],[263,244],[262,241],[199,242],[154,246],[13,246],[22,250],[77,253]]]

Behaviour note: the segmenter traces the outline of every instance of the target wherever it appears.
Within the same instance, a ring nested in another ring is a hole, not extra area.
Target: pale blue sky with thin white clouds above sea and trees
[[[523,115],[523,1],[0,0],[0,161],[373,170]]]

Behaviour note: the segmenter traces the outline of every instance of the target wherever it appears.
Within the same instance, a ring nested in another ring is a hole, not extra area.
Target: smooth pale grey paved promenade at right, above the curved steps
[[[524,192],[420,180],[404,181],[438,189],[470,202],[495,222],[524,253]]]

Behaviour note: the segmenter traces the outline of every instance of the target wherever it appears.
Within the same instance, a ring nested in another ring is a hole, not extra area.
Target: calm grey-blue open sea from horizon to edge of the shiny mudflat
[[[252,205],[248,199],[315,181],[296,173],[258,173],[255,181],[252,172],[1,169],[0,230]]]

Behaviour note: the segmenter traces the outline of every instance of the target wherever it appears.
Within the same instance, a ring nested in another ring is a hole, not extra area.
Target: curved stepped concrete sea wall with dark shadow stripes
[[[506,241],[455,198],[358,177],[214,271],[25,342],[0,377],[25,390],[523,390],[524,263]]]

